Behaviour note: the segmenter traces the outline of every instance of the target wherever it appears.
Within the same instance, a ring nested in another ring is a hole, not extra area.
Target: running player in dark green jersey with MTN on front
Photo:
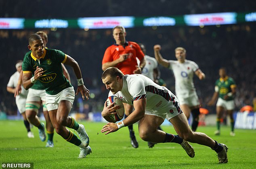
[[[59,50],[44,48],[42,38],[37,34],[30,35],[28,48],[31,52],[25,54],[22,64],[24,88],[29,89],[37,81],[43,85],[46,92],[46,108],[55,131],[66,141],[80,147],[78,158],[86,157],[91,153],[91,148],[88,146],[89,137],[84,125],[78,124],[73,117],[69,116],[75,91],[63,75],[61,68],[61,63],[73,68],[78,79],[76,95],[81,93],[83,99],[85,97],[89,99],[89,90],[84,86],[78,63]],[[81,140],[66,127],[76,130]]]

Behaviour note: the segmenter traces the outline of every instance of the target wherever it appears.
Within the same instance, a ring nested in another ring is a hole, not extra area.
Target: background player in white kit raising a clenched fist
[[[193,83],[193,76],[196,74],[202,80],[205,78],[205,74],[195,62],[186,60],[186,49],[183,47],[175,49],[177,60],[164,59],[160,54],[160,50],[160,45],[154,46],[155,58],[159,64],[169,68],[174,73],[175,93],[178,97],[180,108],[185,113],[187,119],[189,119],[190,112],[192,113],[192,131],[195,132],[199,123],[200,103]]]

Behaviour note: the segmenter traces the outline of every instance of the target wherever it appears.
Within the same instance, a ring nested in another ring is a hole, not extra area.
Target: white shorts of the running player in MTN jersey
[[[58,109],[59,102],[62,100],[69,101],[72,105],[75,99],[75,91],[73,87],[69,87],[58,93],[57,95],[46,95],[46,108],[48,111]]]

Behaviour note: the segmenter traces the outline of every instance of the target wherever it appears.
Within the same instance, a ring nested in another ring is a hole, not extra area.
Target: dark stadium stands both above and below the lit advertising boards
[[[255,0],[247,1],[197,1],[197,0],[0,0],[0,17],[24,17],[26,19],[78,18],[94,16],[171,16],[212,12],[255,11]],[[0,110],[8,115],[17,114],[13,94],[7,93],[6,85],[16,71],[15,63],[28,51],[28,36],[36,31],[48,33],[49,48],[60,49],[78,61],[86,87],[95,94],[94,99],[84,101],[90,111],[101,111],[107,91],[101,82],[101,60],[105,49],[111,45],[111,29],[0,29]],[[206,103],[214,93],[218,69],[227,68],[229,76],[237,83],[236,110],[243,105],[252,105],[256,97],[256,22],[235,25],[200,27],[136,27],[126,29],[126,40],[144,43],[147,55],[153,56],[153,45],[162,45],[162,56],[175,60],[174,49],[187,49],[187,59],[195,61],[206,74],[205,80],[195,77],[195,87],[202,107],[215,113]],[[76,89],[76,77],[67,66],[71,83]],[[174,92],[174,77],[170,70],[159,66],[161,78],[168,89]],[[76,97],[73,111],[81,111],[80,96]]]

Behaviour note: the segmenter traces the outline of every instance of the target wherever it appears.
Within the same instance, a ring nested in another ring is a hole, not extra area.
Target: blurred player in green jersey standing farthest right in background
[[[219,70],[220,78],[215,82],[215,92],[212,96],[212,99],[208,102],[208,105],[214,105],[216,99],[218,98],[216,104],[216,113],[217,113],[217,130],[215,131],[216,135],[220,135],[220,119],[222,118],[223,111],[226,109],[230,117],[231,123],[231,136],[235,136],[234,133],[234,118],[233,111],[235,108],[235,93],[236,85],[233,78],[227,76],[225,68],[220,68]]]

